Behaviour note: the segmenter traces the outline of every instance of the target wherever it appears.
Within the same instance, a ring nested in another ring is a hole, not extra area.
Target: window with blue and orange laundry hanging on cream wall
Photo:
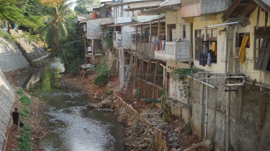
[[[204,40],[204,33],[206,38]],[[211,63],[217,63],[217,29],[197,29],[195,30],[195,60],[199,60],[199,54],[203,52],[203,43],[206,43],[208,53],[211,56]]]

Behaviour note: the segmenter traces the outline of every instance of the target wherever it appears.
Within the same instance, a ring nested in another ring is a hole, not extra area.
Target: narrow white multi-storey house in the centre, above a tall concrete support
[[[141,7],[155,7],[160,2],[162,0],[122,0],[106,7],[114,12],[114,24],[107,27],[113,27],[114,31],[113,47],[118,54],[116,71],[122,87],[129,72],[129,62],[125,56],[131,49],[131,34],[134,32],[134,28],[130,25],[159,17],[159,14],[144,12]]]

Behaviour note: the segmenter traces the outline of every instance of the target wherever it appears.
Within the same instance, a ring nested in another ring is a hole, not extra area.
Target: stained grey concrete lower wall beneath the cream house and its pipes
[[[207,75],[196,75],[196,78]],[[220,77],[224,75],[210,75]],[[204,80],[206,82],[206,80]],[[224,79],[211,79],[208,83],[218,87],[208,87],[208,121],[207,139],[214,139],[219,151],[225,150],[226,134],[230,137],[230,151],[268,151],[270,136],[269,95],[260,91],[259,87],[246,84],[238,87],[238,92],[224,92]],[[233,81],[231,81],[233,83]],[[191,81],[192,124],[195,134],[204,138],[204,123],[206,111],[206,85]],[[226,113],[229,113],[226,123]],[[226,125],[228,124],[228,125]],[[228,127],[227,127],[228,126]],[[263,131],[265,133],[263,133]],[[261,139],[261,138],[264,138]]]

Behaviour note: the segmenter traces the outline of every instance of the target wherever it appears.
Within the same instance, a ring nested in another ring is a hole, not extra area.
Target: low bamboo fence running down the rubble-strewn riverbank
[[[121,102],[121,106],[125,109],[127,109],[127,113],[132,115],[133,120],[140,121],[141,123],[144,123],[146,125],[146,128],[151,128],[155,132],[154,136],[154,150],[155,151],[168,151],[167,148],[167,142],[166,142],[166,136],[162,135],[162,130],[157,129],[153,126],[151,122],[146,120],[142,115],[138,114],[137,111],[133,109],[131,105],[128,105],[123,101],[122,98],[120,98],[117,94],[113,93],[114,96],[116,96],[116,100]]]

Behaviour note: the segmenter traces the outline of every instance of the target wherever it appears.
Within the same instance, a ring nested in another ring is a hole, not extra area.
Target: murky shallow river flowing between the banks
[[[57,81],[63,65],[54,61],[38,72],[18,79],[18,86],[42,98],[48,106],[43,119],[50,131],[41,139],[45,151],[125,151],[124,125],[112,111],[74,109],[93,101],[80,91]]]

